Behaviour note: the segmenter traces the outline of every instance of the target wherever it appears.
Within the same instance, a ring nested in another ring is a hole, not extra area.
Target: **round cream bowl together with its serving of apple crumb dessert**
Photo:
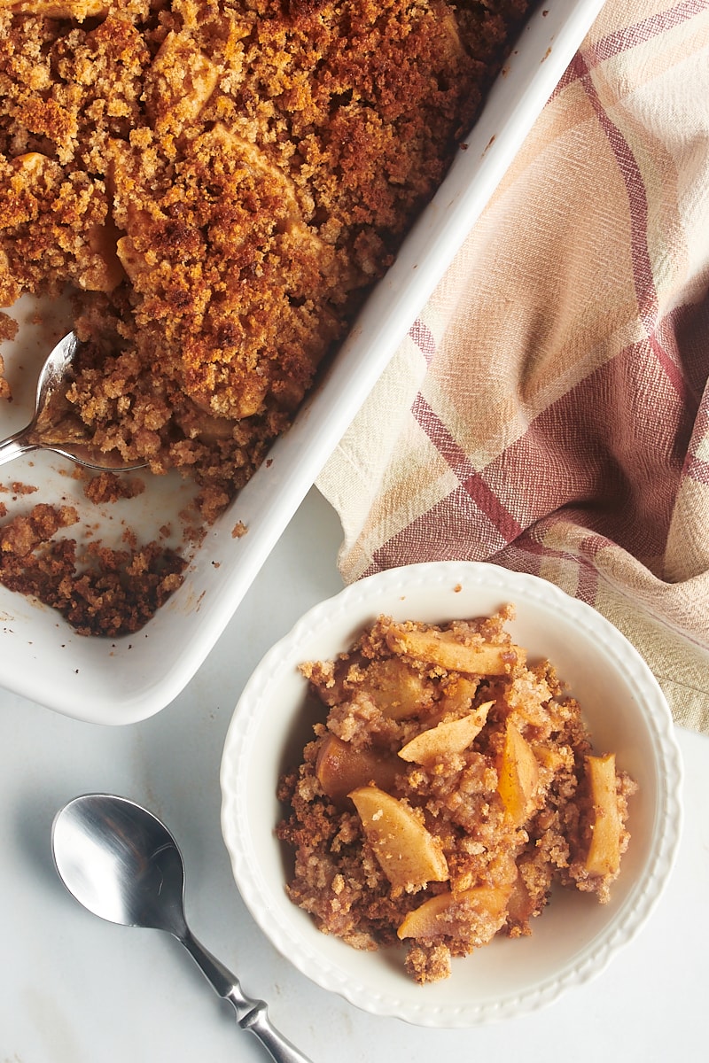
[[[434,562],[347,588],[266,655],[226,737],[222,831],[303,974],[465,1027],[550,1003],[634,939],[674,863],[680,776],[663,695],[604,618]]]

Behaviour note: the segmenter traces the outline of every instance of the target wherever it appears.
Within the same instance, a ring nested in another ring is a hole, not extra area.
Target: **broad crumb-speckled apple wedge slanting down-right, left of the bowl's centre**
[[[392,885],[416,890],[426,882],[448,881],[448,861],[440,843],[408,805],[378,787],[358,787],[350,797]]]

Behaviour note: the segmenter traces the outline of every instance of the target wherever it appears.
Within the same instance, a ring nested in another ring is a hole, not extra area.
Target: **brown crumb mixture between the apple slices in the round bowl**
[[[479,641],[483,635],[484,641],[509,643],[504,629],[508,615],[504,610],[442,630],[455,630],[461,642]],[[420,692],[420,708],[392,719],[392,709],[379,696],[382,662],[394,658],[387,639],[390,625],[390,620],[379,618],[336,661],[303,667],[313,693],[327,707],[327,718],[316,725],[316,738],[305,746],[302,764],[281,779],[278,798],[287,812],[277,836],[294,850],[290,898],[314,916],[319,929],[356,948],[396,943],[398,928],[423,900],[443,893],[458,896],[459,901],[448,909],[448,930],[439,928],[438,933],[412,937],[407,943],[406,969],[417,981],[426,982],[446,977],[452,957],[468,955],[499,932],[512,938],[529,934],[530,921],[547,904],[553,883],[593,892],[605,901],[615,875],[592,876],[585,867],[590,736],[577,702],[564,696],[548,661],[529,668],[511,655],[504,675],[475,677],[405,659]],[[426,626],[411,624],[411,628]],[[332,779],[324,778],[319,762],[324,743],[334,736],[349,750],[396,760],[398,752],[417,735],[490,701],[485,726],[465,750],[426,763],[400,759],[387,792],[418,810],[446,858],[450,879],[431,881],[423,890],[392,885],[354,804],[333,796]],[[499,789],[509,721],[534,750],[539,772],[534,807],[519,823],[508,814]],[[629,838],[627,798],[636,786],[619,772],[617,790],[624,850]],[[504,911],[477,905],[467,892],[477,887],[502,891]]]

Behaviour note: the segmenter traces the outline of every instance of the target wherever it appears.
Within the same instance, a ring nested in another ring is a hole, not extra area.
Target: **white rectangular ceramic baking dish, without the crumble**
[[[180,693],[486,206],[602,6],[603,0],[548,0],[531,17],[467,137],[468,149],[458,153],[331,369],[292,428],[273,446],[270,460],[210,528],[182,588],[141,631],[115,640],[83,638],[53,610],[0,587],[0,676],[6,688],[67,715],[102,724],[147,719]],[[52,311],[56,320],[46,318],[39,330],[30,324],[27,303],[15,313],[20,334],[2,353],[14,384],[18,361],[26,372],[10,414],[2,411],[3,435],[27,422],[32,366],[52,338],[66,331],[58,309]],[[5,490],[14,482],[36,486],[28,507],[63,496],[82,506],[71,471],[58,458],[40,454],[3,467],[0,483]],[[166,516],[174,514],[176,523],[188,492],[176,479],[151,483],[138,499],[106,507],[103,534],[112,528],[120,533],[124,521],[141,538],[152,536]],[[94,507],[84,506],[82,517],[95,523]],[[240,538],[232,534],[237,521],[248,528]]]

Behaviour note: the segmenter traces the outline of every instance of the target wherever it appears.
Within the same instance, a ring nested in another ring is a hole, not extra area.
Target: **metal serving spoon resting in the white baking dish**
[[[61,339],[45,361],[37,381],[32,420],[26,428],[0,441],[0,465],[28,451],[54,451],[78,465],[100,472],[128,472],[140,469],[146,461],[125,461],[118,451],[99,451],[86,438],[85,426],[66,409],[61,387],[67,379],[79,340],[73,333]]]

